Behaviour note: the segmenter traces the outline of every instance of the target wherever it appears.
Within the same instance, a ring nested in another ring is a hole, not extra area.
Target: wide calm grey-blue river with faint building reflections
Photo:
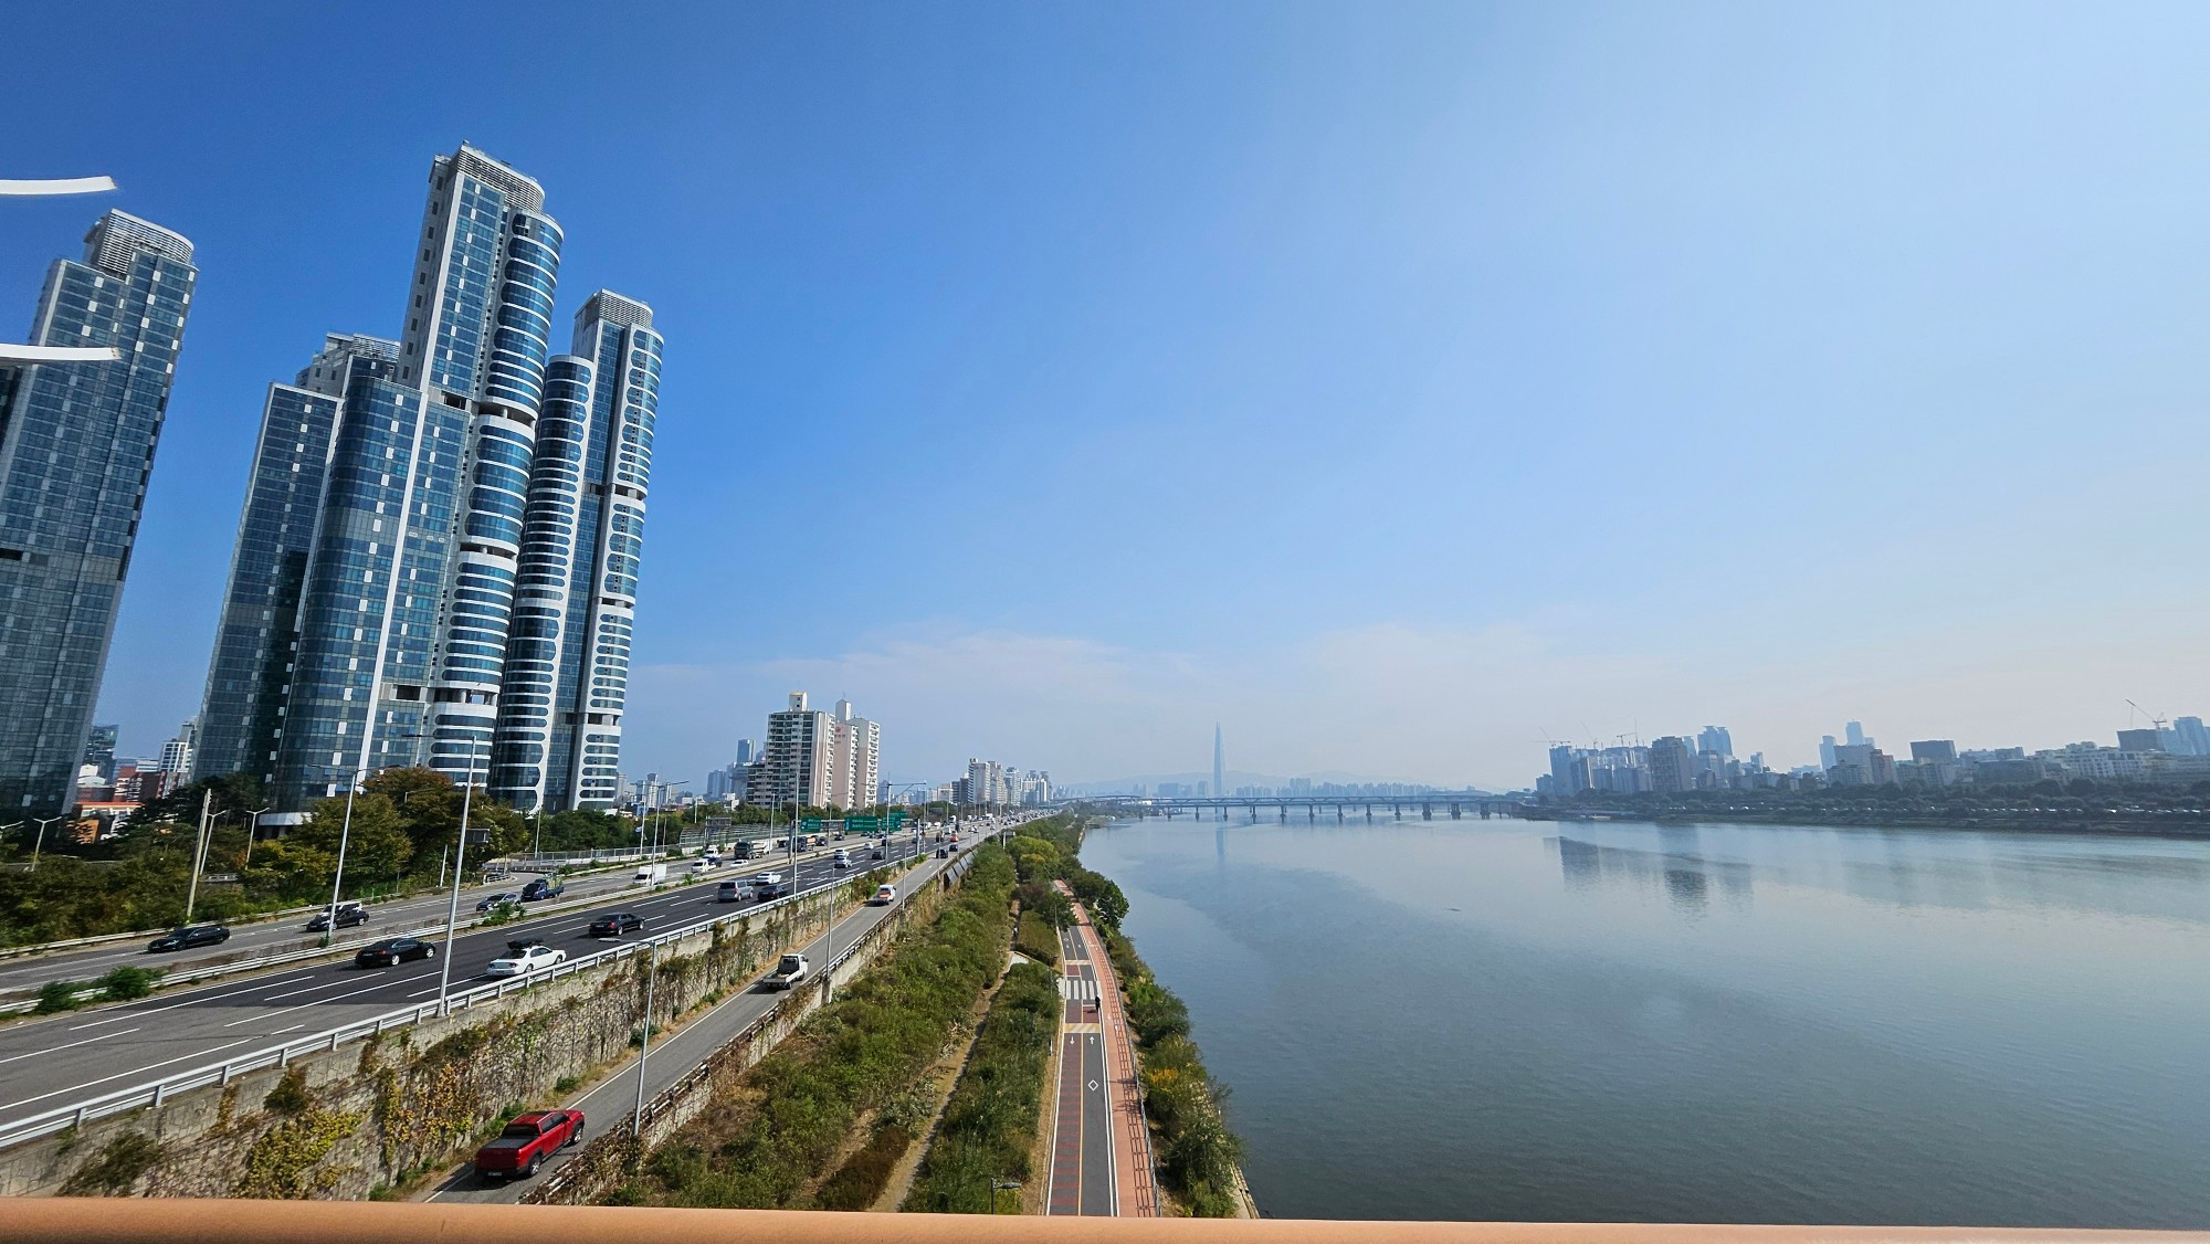
[[[2210,842],[1120,822],[1277,1217],[2210,1226]]]

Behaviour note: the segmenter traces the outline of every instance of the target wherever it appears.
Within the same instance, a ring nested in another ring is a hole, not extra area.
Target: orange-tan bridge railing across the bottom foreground
[[[774,1209],[606,1209],[290,1200],[69,1200],[9,1204],[7,1240],[55,1244],[2177,1244],[2199,1231],[1976,1226],[1699,1226],[1624,1222],[1335,1222],[1017,1217]]]

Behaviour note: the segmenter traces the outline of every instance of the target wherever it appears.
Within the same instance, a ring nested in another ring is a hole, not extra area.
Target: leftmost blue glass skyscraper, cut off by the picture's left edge
[[[197,278],[190,241],[108,212],[46,272],[31,345],[117,360],[0,365],[0,809],[75,800]]]

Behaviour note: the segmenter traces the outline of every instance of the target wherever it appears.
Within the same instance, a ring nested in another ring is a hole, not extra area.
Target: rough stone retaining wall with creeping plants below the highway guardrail
[[[758,977],[855,888],[663,946],[654,1023]],[[367,1198],[475,1149],[508,1105],[628,1054],[643,1003],[643,957],[564,977],[18,1145],[0,1153],[0,1195]]]

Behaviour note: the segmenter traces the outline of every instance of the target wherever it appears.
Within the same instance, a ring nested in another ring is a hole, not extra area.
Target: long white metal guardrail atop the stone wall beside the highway
[[[886,864],[895,864],[895,862],[886,862]],[[252,1054],[241,1054],[241,1056],[228,1058],[223,1063],[210,1063],[210,1065],[203,1065],[203,1067],[179,1072],[175,1076],[164,1076],[164,1078],[146,1083],[146,1085],[135,1085],[135,1087],[128,1087],[128,1089],[117,1089],[113,1094],[102,1094],[97,1098],[86,1098],[86,1100],[80,1100],[75,1105],[64,1105],[64,1107],[57,1107],[57,1109],[49,1109],[44,1114],[33,1114],[31,1118],[22,1118],[22,1120],[15,1120],[15,1122],[0,1122],[0,1149],[4,1149],[9,1145],[22,1145],[24,1140],[35,1140],[40,1136],[51,1136],[55,1131],[66,1129],[66,1127],[82,1127],[84,1122],[91,1122],[95,1118],[106,1118],[106,1116],[124,1114],[124,1111],[130,1111],[130,1109],[157,1107],[157,1105],[166,1103],[168,1098],[172,1098],[172,1096],[177,1096],[181,1092],[188,1092],[188,1089],[199,1089],[199,1087],[208,1087],[208,1085],[228,1085],[230,1080],[234,1080],[234,1078],[239,1078],[239,1076],[243,1076],[248,1072],[259,1072],[263,1067],[285,1067],[285,1065],[292,1063],[292,1058],[298,1058],[303,1054],[320,1054],[325,1050],[336,1050],[336,1047],[345,1045],[347,1041],[362,1041],[367,1036],[380,1036],[380,1034],[391,1032],[396,1027],[407,1027],[411,1023],[422,1023],[427,1019],[438,1019],[440,1014],[451,1014],[455,1010],[469,1010],[469,1008],[473,1008],[477,1003],[497,1001],[497,999],[504,999],[506,994],[522,992],[522,990],[533,988],[533,985],[557,981],[561,977],[572,977],[577,972],[586,972],[586,970],[592,970],[592,968],[610,966],[610,963],[614,963],[619,959],[625,959],[630,955],[636,955],[641,950],[665,946],[670,941],[678,941],[683,937],[692,937],[696,932],[703,932],[703,930],[720,926],[720,924],[734,924],[738,919],[751,919],[751,917],[756,917],[760,913],[767,913],[767,910],[776,910],[776,908],[785,908],[785,906],[796,906],[800,899],[807,899],[807,897],[813,897],[813,895],[820,895],[820,893],[829,893],[829,890],[838,890],[842,886],[853,884],[853,879],[857,879],[857,877],[831,877],[829,882],[822,882],[818,886],[798,890],[793,895],[785,895],[780,899],[765,902],[760,906],[751,906],[751,908],[743,908],[743,910],[734,910],[734,913],[707,917],[707,919],[687,924],[683,928],[676,928],[676,930],[670,930],[670,932],[659,932],[654,937],[645,937],[645,939],[639,939],[639,941],[625,941],[621,946],[610,946],[610,948],[599,950],[594,955],[586,955],[581,959],[570,959],[566,963],[555,963],[555,966],[544,968],[539,972],[530,972],[528,977],[508,977],[504,981],[493,981],[488,985],[477,985],[473,990],[462,990],[462,992],[446,994],[444,999],[433,999],[433,1001],[427,1001],[427,1003],[415,1003],[415,1005],[409,1005],[409,1008],[391,1010],[391,1012],[385,1012],[385,1014],[378,1014],[378,1016],[358,1019],[354,1023],[345,1023],[345,1025],[338,1025],[338,1027],[329,1027],[325,1032],[301,1036],[301,1039],[287,1041],[283,1045],[270,1045],[265,1050],[256,1050]]]

